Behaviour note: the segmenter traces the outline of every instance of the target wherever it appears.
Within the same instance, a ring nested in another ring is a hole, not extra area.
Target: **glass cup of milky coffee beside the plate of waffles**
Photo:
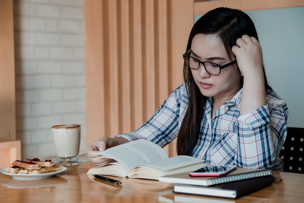
[[[68,124],[51,127],[53,144],[59,164],[78,165],[80,125]]]

